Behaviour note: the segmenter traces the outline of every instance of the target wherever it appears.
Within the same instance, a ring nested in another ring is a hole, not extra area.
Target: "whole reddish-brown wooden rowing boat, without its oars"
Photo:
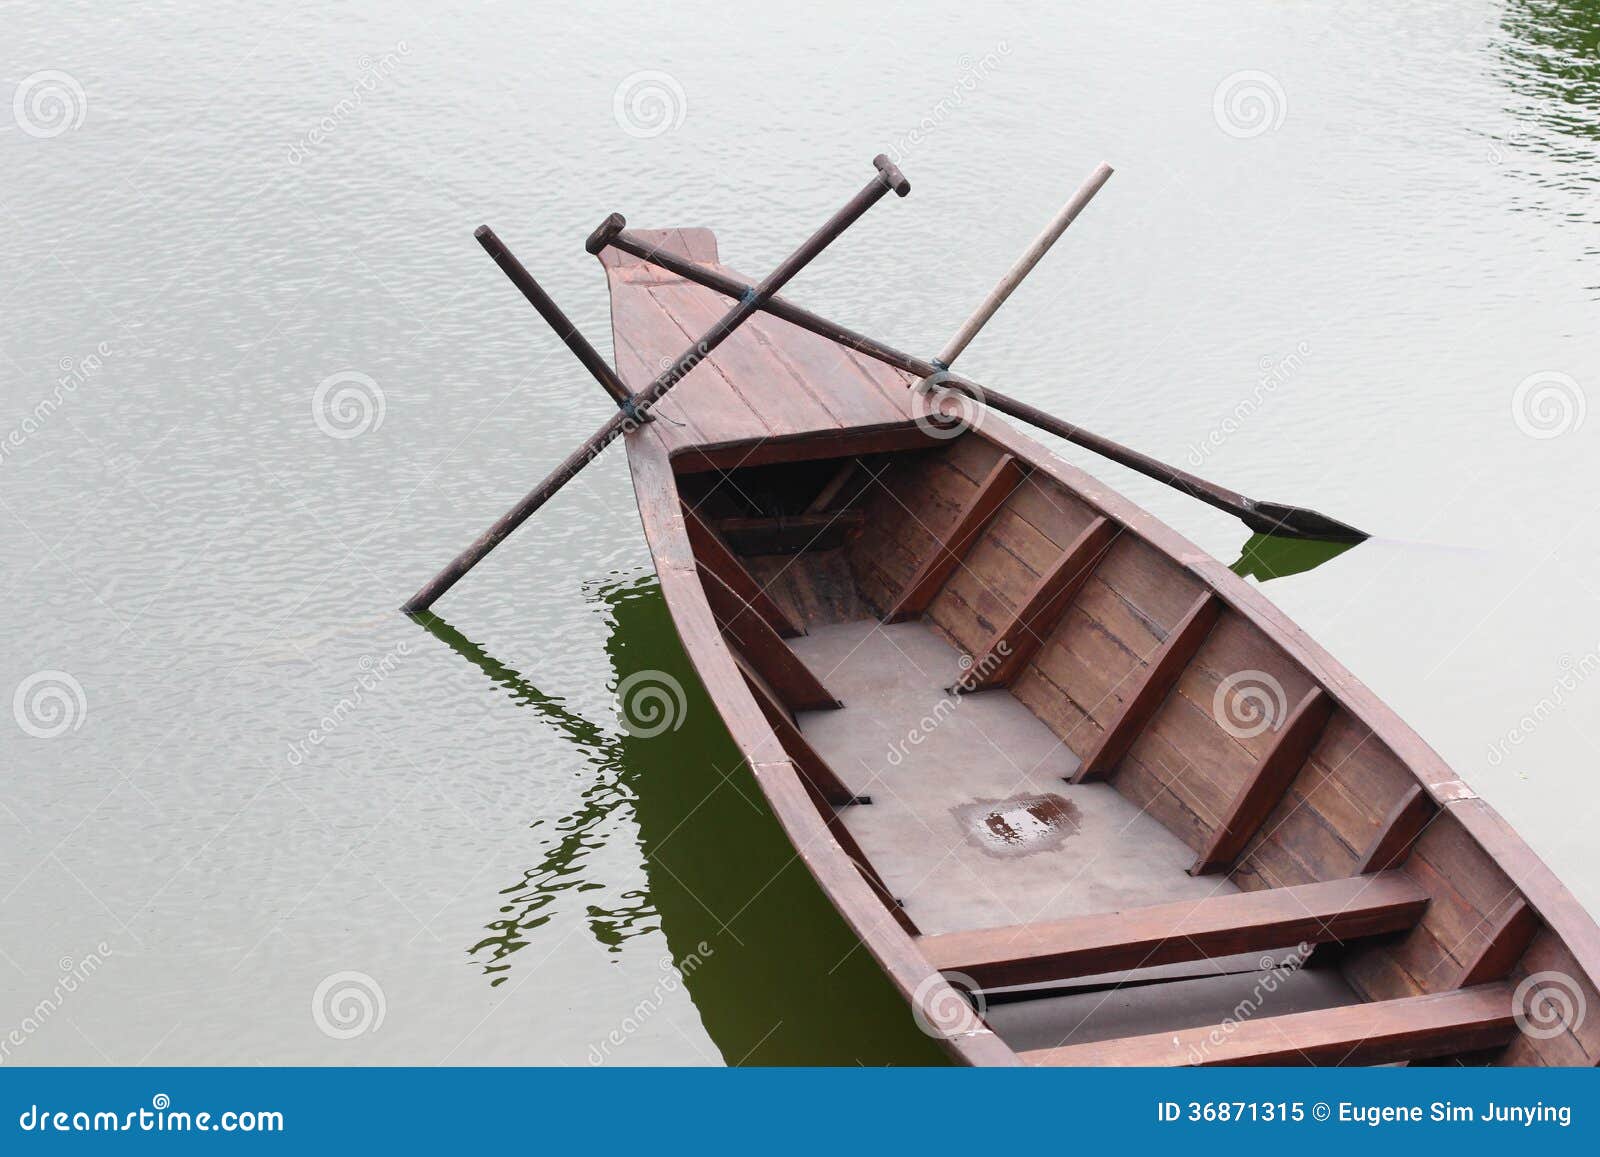
[[[726,307],[602,262],[634,389]],[[763,314],[627,454],[690,659],[957,1061],[1600,1059],[1600,928],[1485,800],[1258,589],[910,384]]]

